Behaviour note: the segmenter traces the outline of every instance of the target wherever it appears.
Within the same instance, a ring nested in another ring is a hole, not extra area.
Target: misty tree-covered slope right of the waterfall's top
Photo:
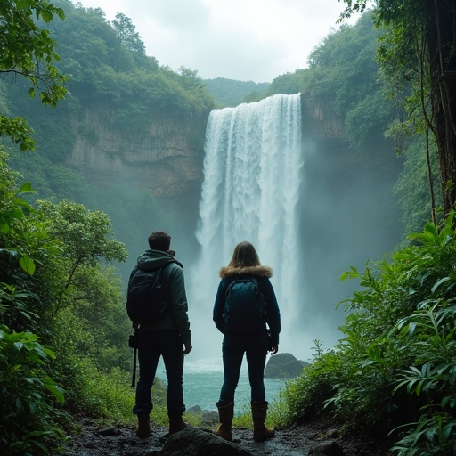
[[[325,37],[309,58],[303,92],[328,103],[330,111],[345,122],[350,145],[361,148],[382,132],[396,116],[395,105],[384,99],[376,61],[379,33],[371,14],[364,14],[354,27],[342,27]]]

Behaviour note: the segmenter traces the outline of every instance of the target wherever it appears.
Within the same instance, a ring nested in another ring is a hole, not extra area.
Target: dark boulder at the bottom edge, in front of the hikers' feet
[[[167,438],[160,456],[253,456],[238,444],[216,436],[211,431],[188,426]]]

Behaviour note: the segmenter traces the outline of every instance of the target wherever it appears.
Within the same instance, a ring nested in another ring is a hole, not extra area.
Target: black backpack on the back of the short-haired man
[[[165,266],[153,271],[134,266],[126,291],[126,314],[132,322],[157,322],[167,313],[164,270]]]

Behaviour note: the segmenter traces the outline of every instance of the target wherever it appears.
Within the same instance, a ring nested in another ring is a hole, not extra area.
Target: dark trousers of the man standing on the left
[[[151,413],[151,387],[159,358],[163,356],[167,371],[167,414],[179,418],[185,411],[183,403],[183,341],[177,330],[140,330],[139,380],[136,386],[135,415]]]

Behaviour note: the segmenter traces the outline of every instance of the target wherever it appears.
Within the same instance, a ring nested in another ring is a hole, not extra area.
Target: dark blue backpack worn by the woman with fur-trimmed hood
[[[232,281],[225,293],[224,329],[252,331],[265,328],[265,297],[256,279]]]

